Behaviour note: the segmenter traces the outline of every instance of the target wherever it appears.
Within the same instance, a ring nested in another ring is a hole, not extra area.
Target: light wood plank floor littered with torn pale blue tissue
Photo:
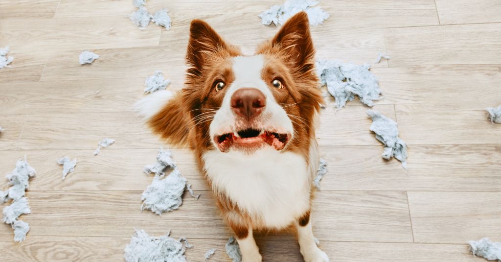
[[[0,47],[12,67],[0,70],[0,187],[16,160],[37,170],[28,197],[28,239],[14,243],[0,225],[2,261],[122,261],[134,228],[186,236],[189,261],[217,248],[229,261],[232,235],[214,206],[189,150],[172,149],[183,175],[201,193],[174,212],[140,213],[162,143],[131,110],[145,77],[162,70],[182,87],[189,22],[208,21],[250,54],[277,32],[257,15],[281,1],[150,0],[169,9],[172,29],[140,31],[128,20],[132,0],[0,0]],[[485,107],[501,104],[501,1],[323,0],[331,14],[312,28],[318,57],[376,64],[384,99],[374,109],[398,121],[409,145],[408,172],[383,161],[369,132],[366,106],[323,109],[318,131],[329,173],[316,193],[313,228],[331,261],[482,261],[465,242],[501,241],[501,125]],[[78,55],[101,58],[80,66]],[[99,91],[99,92],[98,92]],[[94,157],[98,141],[116,143]],[[56,159],[77,158],[61,180]],[[301,261],[291,232],[257,236],[264,261]]]

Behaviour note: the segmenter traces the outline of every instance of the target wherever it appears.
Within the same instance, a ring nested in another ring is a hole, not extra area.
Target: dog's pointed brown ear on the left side
[[[206,22],[198,19],[191,21],[186,52],[188,76],[200,76],[204,66],[216,56],[227,55],[238,55],[238,50],[224,42]]]

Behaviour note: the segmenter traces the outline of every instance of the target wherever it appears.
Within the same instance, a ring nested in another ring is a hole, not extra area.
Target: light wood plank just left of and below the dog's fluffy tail
[[[105,138],[116,140],[110,146],[113,149],[154,149],[162,145],[141,117],[129,111],[30,115],[19,149],[95,149]]]

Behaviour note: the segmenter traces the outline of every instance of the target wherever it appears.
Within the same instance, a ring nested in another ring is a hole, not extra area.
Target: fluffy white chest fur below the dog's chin
[[[252,155],[217,150],[203,154],[213,189],[226,194],[263,226],[282,228],[310,205],[310,174],[299,154],[266,147]]]

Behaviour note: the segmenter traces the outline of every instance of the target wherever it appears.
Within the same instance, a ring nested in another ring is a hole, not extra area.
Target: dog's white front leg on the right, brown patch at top
[[[310,211],[296,221],[301,254],[306,262],[329,262],[327,254],[318,248],[313,236]]]

